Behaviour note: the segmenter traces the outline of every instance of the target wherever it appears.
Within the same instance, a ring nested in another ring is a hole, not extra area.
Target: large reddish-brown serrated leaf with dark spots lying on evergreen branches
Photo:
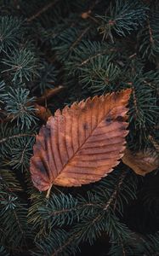
[[[105,177],[118,164],[128,134],[131,90],[94,96],[57,110],[37,135],[31,178],[39,190],[80,186]]]

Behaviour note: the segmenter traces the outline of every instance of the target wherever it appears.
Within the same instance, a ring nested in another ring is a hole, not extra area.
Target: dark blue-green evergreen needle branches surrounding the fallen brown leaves
[[[132,88],[128,148],[158,150],[159,3],[0,4],[0,255],[86,255],[97,241],[104,250],[92,255],[158,255],[157,170],[141,178],[121,162],[98,183],[53,187],[47,199],[33,187],[29,163],[43,125],[35,102],[60,84],[64,90],[43,102],[53,114]]]

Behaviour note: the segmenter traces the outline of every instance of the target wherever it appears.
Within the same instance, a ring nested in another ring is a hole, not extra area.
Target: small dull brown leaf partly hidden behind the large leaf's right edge
[[[159,156],[151,150],[133,154],[126,148],[122,156],[122,162],[133,169],[135,173],[145,176],[145,174],[156,170],[159,166]]]

